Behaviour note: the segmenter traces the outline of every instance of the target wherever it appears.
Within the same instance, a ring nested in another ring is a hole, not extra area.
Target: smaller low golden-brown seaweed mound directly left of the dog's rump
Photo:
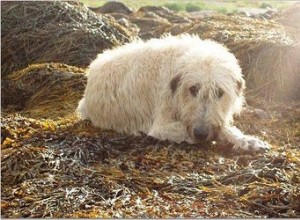
[[[1,104],[31,117],[63,117],[83,95],[84,69],[60,63],[33,64],[2,77]]]

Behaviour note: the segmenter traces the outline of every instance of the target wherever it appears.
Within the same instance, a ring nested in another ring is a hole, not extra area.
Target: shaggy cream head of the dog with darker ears
[[[170,81],[172,116],[195,142],[215,139],[241,111],[245,82],[236,58],[225,55],[187,59]]]

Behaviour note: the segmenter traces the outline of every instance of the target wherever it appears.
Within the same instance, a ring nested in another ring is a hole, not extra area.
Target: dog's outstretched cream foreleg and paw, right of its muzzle
[[[269,144],[250,135],[243,134],[234,126],[224,127],[219,135],[219,139],[233,144],[235,151],[264,152],[269,150]]]

